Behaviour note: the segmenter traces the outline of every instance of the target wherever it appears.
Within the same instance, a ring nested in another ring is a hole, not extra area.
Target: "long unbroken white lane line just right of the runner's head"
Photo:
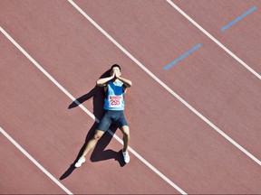
[[[157,78],[150,70],[148,70],[143,64],[140,63],[139,60],[135,59],[129,51],[126,51],[119,42],[116,42],[111,35],[108,32],[105,32],[102,27],[95,23],[92,18],[82,11],[82,9],[76,5],[73,0],[68,0],[70,4],[72,4],[90,23],[92,23],[104,36],[106,36],[111,42],[113,42],[122,52],[124,52],[131,60],[133,60],[142,70],[147,72],[152,79],[155,79],[163,88],[169,91],[171,95],[173,95],[175,98],[179,99],[179,101],[184,104],[186,107],[188,107],[193,113],[195,113],[198,117],[200,117],[203,121],[205,121],[208,125],[210,125],[213,129],[215,129],[218,134],[222,135],[227,139],[228,142],[231,144],[234,144],[241,152],[247,154],[249,158],[251,158],[253,161],[261,165],[261,162],[252,154],[249,153],[245,148],[243,148],[240,144],[237,144],[236,141],[234,141],[231,137],[226,135],[223,131],[221,131],[218,126],[214,125],[212,122],[208,120],[207,117],[202,116],[198,110],[196,110],[194,107],[191,107],[188,102],[186,102],[183,98],[179,97],[177,93],[175,93],[171,88],[169,88],[164,82],[162,82],[159,78]]]

